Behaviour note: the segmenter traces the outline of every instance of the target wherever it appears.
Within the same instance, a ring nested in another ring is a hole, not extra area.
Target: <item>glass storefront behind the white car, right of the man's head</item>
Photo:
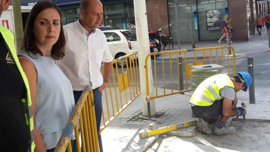
[[[133,2],[118,3],[104,6],[106,26],[113,29],[135,29]]]

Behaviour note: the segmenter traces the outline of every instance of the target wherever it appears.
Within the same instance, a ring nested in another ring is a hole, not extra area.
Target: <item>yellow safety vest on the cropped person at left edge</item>
[[[21,99],[22,104],[23,104],[23,111],[25,113],[25,119],[26,119],[26,125],[27,128],[29,129],[28,131],[28,138],[29,138],[29,148],[28,152],[34,152],[35,144],[34,144],[34,123],[33,123],[33,113],[32,113],[32,104],[31,104],[31,96],[30,96],[30,88],[28,84],[27,77],[21,68],[21,64],[19,62],[19,59],[17,57],[17,52],[14,46],[14,36],[13,33],[5,28],[4,26],[0,25],[0,32],[5,40],[5,44],[7,46],[7,49],[10,52],[10,55],[13,57],[14,62],[17,65],[17,68],[21,74],[21,77],[24,81],[25,88],[26,88],[26,94],[25,94],[25,99]],[[20,142],[20,141],[18,141]]]

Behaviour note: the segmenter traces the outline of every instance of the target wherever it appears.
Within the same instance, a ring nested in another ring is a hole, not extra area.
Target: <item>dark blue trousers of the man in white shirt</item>
[[[82,93],[83,91],[73,91],[75,104],[77,104],[77,102],[79,101],[79,98],[82,95]],[[98,91],[98,88],[95,88],[93,90],[93,95],[94,95],[95,115],[96,115],[97,131],[98,131],[99,151],[103,152],[101,135],[99,135],[101,115],[102,115],[102,92]]]

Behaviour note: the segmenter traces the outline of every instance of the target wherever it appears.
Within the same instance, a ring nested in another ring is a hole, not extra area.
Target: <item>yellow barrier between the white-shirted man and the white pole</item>
[[[137,58],[137,52],[134,52],[112,61],[112,76],[105,90],[106,104],[102,105],[100,132],[141,95]]]

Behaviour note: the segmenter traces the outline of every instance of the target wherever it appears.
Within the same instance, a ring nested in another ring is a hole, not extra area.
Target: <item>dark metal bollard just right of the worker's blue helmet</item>
[[[252,83],[249,86],[249,103],[255,103],[253,57],[248,57],[248,72],[252,77]]]

